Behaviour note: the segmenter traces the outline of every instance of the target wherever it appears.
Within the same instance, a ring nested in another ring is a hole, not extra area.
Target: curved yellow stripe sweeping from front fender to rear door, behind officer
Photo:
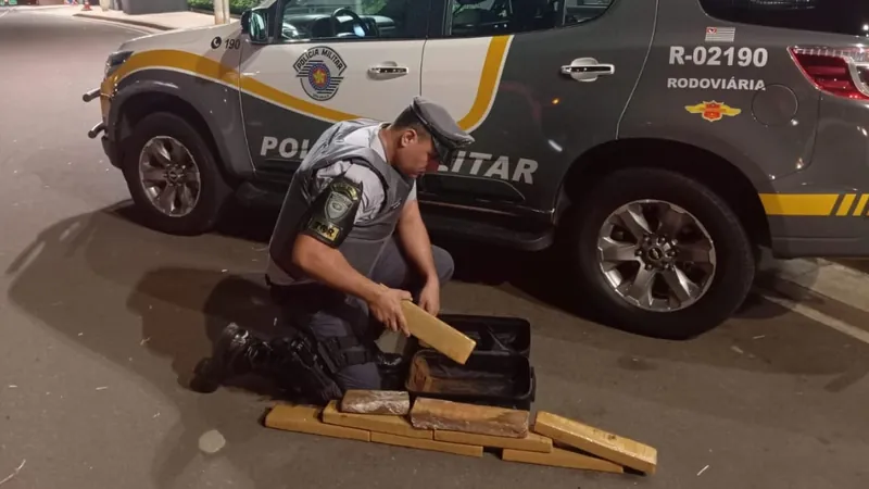
[[[458,120],[458,125],[461,127],[468,128],[477,126],[489,113],[489,108],[495,96],[495,87],[498,86],[501,75],[501,68],[506,59],[505,54],[507,46],[509,45],[509,39],[511,36],[496,36],[490,41],[486,61],[483,62],[482,73],[480,74],[480,83],[477,87],[477,96],[468,113]],[[142,70],[175,70],[187,72],[201,78],[238,87],[243,92],[256,96],[294,112],[330,122],[364,116],[338,111],[294,97],[254,78],[239,76],[237,70],[217,61],[187,51],[171,49],[141,51],[133,54],[112,74],[112,76],[103,82],[101,86],[102,95],[109,97],[114,91],[114,87],[121,83],[124,77]]]

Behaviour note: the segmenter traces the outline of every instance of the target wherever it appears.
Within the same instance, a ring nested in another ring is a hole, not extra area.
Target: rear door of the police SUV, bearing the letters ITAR
[[[423,178],[420,200],[551,210],[570,164],[615,139],[656,4],[432,0],[432,23],[445,22],[426,43],[423,96],[476,142]]]

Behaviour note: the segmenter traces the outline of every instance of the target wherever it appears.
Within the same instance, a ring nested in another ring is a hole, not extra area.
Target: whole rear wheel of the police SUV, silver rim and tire
[[[728,319],[752,287],[753,248],[739,218],[679,173],[614,173],[574,220],[569,252],[579,296],[624,329],[688,339]]]

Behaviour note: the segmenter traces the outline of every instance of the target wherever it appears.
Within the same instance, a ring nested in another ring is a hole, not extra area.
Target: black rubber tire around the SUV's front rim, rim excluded
[[[200,197],[193,211],[187,215],[167,216],[160,212],[146,196],[139,179],[141,150],[149,140],[158,136],[178,140],[199,167]],[[133,201],[142,212],[143,224],[171,235],[200,235],[212,230],[232,195],[203,136],[185,118],[168,112],[150,114],[136,124],[133,135],[125,142],[123,172]]]

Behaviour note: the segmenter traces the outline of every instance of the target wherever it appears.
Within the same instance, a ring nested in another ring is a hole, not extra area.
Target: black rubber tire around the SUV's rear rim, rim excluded
[[[673,203],[693,214],[715,243],[716,272],[706,293],[672,312],[653,312],[629,304],[610,287],[599,267],[597,234],[607,216],[640,199]],[[753,246],[736,215],[709,188],[679,173],[628,168],[600,183],[578,203],[568,226],[567,253],[578,271],[577,300],[600,309],[618,328],[665,339],[689,339],[727,321],[743,303],[755,275]]]

